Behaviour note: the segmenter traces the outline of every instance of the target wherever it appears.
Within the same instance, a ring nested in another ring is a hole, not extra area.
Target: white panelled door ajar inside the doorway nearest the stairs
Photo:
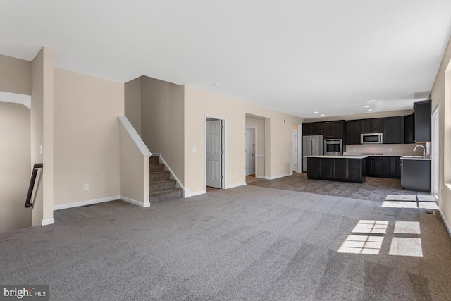
[[[222,123],[206,121],[206,185],[222,188]]]

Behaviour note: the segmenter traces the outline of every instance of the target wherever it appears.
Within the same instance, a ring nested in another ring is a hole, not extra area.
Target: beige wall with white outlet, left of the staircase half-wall
[[[54,204],[118,197],[124,85],[55,68],[54,99]]]

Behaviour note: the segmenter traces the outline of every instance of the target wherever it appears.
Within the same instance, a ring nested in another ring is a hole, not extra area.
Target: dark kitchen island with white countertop
[[[361,156],[307,156],[307,177],[315,180],[337,180],[364,183],[366,155]]]

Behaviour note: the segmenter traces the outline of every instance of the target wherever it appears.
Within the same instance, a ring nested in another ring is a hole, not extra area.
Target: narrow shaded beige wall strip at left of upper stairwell
[[[141,136],[141,78],[125,82],[125,116]]]

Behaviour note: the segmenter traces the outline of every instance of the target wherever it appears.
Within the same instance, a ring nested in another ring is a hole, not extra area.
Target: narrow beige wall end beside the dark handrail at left
[[[32,226],[53,223],[54,54],[43,47],[32,61],[31,164],[44,164],[35,187]]]

